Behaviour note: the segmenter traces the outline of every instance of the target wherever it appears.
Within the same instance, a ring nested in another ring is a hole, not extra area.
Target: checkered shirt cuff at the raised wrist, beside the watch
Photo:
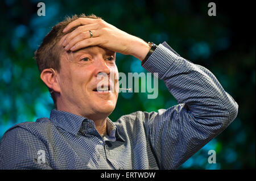
[[[179,58],[179,54],[174,52],[166,42],[159,44],[142,67],[151,73],[158,73],[158,78],[162,79],[172,62]]]

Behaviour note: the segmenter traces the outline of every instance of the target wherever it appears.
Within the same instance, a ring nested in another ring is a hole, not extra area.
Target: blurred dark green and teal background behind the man
[[[255,34],[252,5],[214,1],[217,16],[208,16],[208,1],[1,1],[0,138],[16,123],[49,117],[53,102],[39,77],[34,51],[51,27],[66,15],[85,13],[145,41],[167,41],[182,57],[212,71],[239,104],[236,120],[179,169],[255,169]],[[146,72],[132,56],[117,54],[120,72]],[[163,81],[157,99],[146,93],[120,93],[110,119],[177,104]],[[208,151],[216,150],[216,164]]]

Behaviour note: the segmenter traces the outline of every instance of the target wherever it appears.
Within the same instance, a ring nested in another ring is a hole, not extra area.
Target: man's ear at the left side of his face
[[[57,80],[56,71],[52,71],[51,69],[44,69],[40,75],[42,81],[55,92],[60,92],[59,82]]]

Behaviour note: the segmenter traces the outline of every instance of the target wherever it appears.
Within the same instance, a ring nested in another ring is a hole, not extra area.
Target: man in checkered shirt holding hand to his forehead
[[[115,52],[158,73],[178,103],[137,111],[114,123],[118,97]],[[203,66],[118,30],[95,15],[52,28],[35,53],[55,110],[50,118],[15,125],[3,135],[1,169],[177,169],[236,118],[238,105]],[[102,87],[98,75],[108,77]],[[114,91],[110,91],[114,85]]]

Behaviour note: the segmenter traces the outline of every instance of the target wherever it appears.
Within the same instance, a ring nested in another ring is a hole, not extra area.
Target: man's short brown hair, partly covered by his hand
[[[62,22],[52,27],[52,30],[44,37],[43,42],[38,48],[38,50],[35,51],[34,59],[36,60],[36,64],[38,65],[40,74],[44,69],[49,69],[49,68],[60,71],[60,56],[62,51],[61,51],[61,47],[58,46],[58,43],[61,37],[75,30],[75,28],[77,28],[78,26],[72,28],[70,31],[65,33],[63,33],[62,31],[69,23],[79,18],[101,19],[100,17],[94,14],[91,14],[89,16],[86,16],[85,14],[80,14],[80,15],[75,14],[72,17],[67,16],[67,18],[65,18]],[[51,92],[54,106],[55,108],[57,108],[54,92],[52,92],[52,90],[49,87],[48,89]]]

